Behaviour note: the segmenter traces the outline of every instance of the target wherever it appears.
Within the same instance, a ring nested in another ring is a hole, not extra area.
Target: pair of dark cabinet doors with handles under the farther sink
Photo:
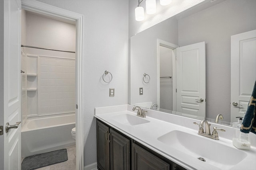
[[[130,170],[130,139],[98,120],[97,163],[100,170]]]

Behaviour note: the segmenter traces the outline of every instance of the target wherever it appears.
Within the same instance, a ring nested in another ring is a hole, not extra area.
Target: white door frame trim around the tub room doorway
[[[75,122],[76,122],[76,169],[84,168],[83,115],[82,115],[82,22],[83,16],[36,1],[22,1],[22,10],[50,18],[73,22],[76,26],[75,47]],[[71,129],[70,129],[71,135]]]

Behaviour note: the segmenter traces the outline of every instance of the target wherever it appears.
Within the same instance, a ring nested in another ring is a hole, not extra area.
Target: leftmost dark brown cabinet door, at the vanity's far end
[[[97,163],[101,170],[110,169],[109,128],[97,120]]]

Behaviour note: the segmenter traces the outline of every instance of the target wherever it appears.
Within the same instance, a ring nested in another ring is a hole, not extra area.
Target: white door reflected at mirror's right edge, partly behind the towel
[[[231,122],[246,113],[256,80],[256,30],[231,36]]]

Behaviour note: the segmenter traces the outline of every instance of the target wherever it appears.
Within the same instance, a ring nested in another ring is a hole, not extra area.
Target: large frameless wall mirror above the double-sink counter
[[[208,1],[132,36],[130,104],[210,121],[222,114],[225,124],[244,117],[247,99],[232,96],[250,97],[256,80],[256,68],[248,66],[256,65],[255,9],[255,0]],[[238,51],[234,61],[239,48],[245,54]]]

